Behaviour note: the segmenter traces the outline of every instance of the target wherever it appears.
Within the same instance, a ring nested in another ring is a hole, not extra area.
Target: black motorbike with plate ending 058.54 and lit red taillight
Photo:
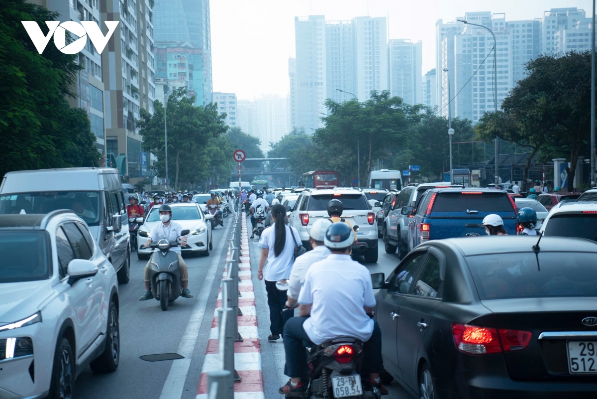
[[[339,336],[307,350],[309,385],[304,399],[381,398],[379,389],[364,385],[359,374],[364,358],[361,340]]]

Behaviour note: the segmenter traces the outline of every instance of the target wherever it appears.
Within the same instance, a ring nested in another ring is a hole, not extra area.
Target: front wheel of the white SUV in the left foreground
[[[52,380],[48,399],[72,399],[75,383],[75,359],[69,340],[60,337],[54,353]]]

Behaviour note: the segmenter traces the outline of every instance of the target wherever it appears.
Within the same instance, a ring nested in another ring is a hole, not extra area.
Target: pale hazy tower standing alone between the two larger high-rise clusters
[[[404,99],[410,105],[424,103],[421,98],[421,41],[391,39],[389,42],[390,94]]]

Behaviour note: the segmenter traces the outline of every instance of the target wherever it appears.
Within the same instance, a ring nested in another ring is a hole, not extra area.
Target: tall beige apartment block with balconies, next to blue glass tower
[[[150,0],[101,0],[101,11],[101,20],[120,20],[101,54],[106,148],[121,174],[134,182],[150,171],[135,121],[141,108],[153,113],[153,11]]]

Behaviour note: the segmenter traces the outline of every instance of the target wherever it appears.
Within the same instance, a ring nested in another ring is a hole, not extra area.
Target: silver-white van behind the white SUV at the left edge
[[[131,265],[127,202],[114,168],[21,170],[5,174],[0,185],[0,214],[75,211],[121,284],[128,283]]]

